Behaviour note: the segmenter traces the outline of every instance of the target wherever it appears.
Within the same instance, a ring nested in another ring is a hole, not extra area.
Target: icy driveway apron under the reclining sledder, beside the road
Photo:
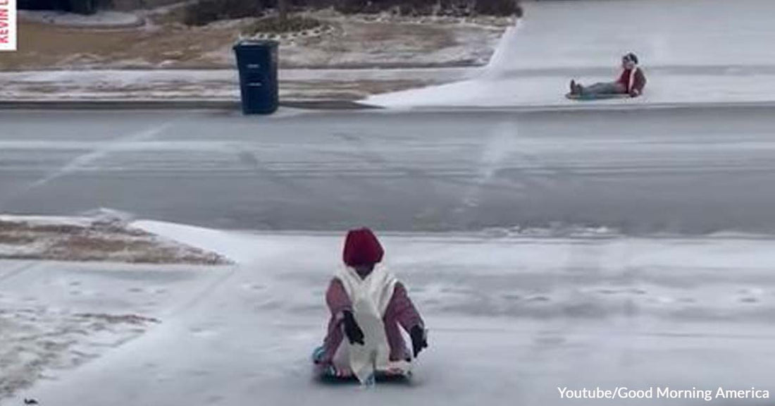
[[[618,74],[583,77],[583,83],[612,81]],[[649,106],[775,103],[775,74],[649,74],[646,92],[639,98],[575,102],[563,97],[572,72],[565,75],[527,77],[480,77],[373,95],[367,104],[387,108],[632,108]]]

